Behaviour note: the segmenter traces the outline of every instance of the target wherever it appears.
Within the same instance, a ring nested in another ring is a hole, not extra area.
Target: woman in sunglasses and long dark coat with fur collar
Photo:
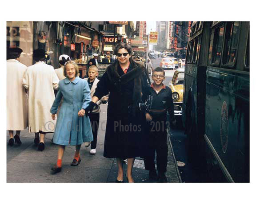
[[[123,182],[123,160],[128,159],[127,179],[132,178],[132,167],[137,156],[143,154],[145,142],[145,114],[141,111],[142,90],[148,86],[144,67],[131,57],[132,47],[120,42],[114,51],[117,61],[108,66],[98,82],[92,102],[85,110],[90,112],[97,100],[109,92],[104,157],[116,158],[118,175],[116,182]]]

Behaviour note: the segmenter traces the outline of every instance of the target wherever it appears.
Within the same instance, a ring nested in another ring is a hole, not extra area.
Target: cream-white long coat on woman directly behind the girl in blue
[[[51,65],[36,62],[29,66],[23,77],[28,89],[29,132],[53,132],[56,120],[52,120],[50,109],[55,99],[53,89],[58,88],[59,79]]]

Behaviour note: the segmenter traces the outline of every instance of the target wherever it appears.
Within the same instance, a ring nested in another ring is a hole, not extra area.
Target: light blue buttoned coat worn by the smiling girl
[[[68,77],[59,82],[59,91],[52,104],[51,113],[56,114],[60,100],[60,114],[57,118],[53,142],[59,145],[80,145],[93,140],[92,128],[88,116],[78,116],[81,108],[88,107],[91,96],[88,82],[76,77],[70,81]]]

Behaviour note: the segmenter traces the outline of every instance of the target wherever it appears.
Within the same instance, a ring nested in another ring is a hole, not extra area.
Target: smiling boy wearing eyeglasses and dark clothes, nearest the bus
[[[169,112],[172,124],[176,123],[173,111],[172,90],[163,84],[164,79],[164,69],[160,67],[154,69],[152,72],[153,83],[143,94],[144,100],[152,97],[152,104],[149,110],[146,111],[150,148],[148,156],[144,157],[144,165],[145,169],[149,170],[149,178],[159,182],[167,182],[165,177],[168,161],[167,112]],[[158,176],[155,169],[155,151],[157,154]]]

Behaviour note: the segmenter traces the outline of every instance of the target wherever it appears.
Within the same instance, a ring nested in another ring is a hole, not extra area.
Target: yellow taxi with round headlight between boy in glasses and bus
[[[183,99],[183,81],[184,81],[184,68],[176,69],[169,87],[172,89],[172,100],[174,104],[174,115],[182,115],[182,99]]]

